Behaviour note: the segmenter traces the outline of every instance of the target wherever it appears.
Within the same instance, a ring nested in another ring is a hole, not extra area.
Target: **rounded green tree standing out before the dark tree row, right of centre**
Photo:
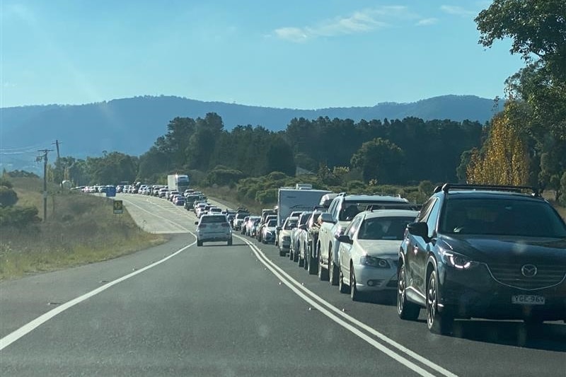
[[[396,183],[402,177],[405,153],[391,141],[376,138],[362,144],[350,164],[362,170],[365,182],[376,179],[380,183]]]

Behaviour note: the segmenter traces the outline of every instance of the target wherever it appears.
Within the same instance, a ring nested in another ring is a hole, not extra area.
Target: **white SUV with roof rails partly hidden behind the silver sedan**
[[[318,257],[318,278],[330,280],[330,284],[338,285],[340,260],[338,248],[340,236],[345,228],[359,212],[375,207],[376,209],[414,209],[407,199],[399,195],[348,195],[338,194],[328,207],[328,211],[320,215],[320,231],[316,246]]]

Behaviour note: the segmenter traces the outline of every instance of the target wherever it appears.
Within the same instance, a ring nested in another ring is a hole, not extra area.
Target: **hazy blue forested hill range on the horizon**
[[[500,104],[501,106],[501,104]],[[262,108],[222,102],[203,102],[173,96],[140,96],[86,105],[23,106],[0,109],[0,164],[8,169],[22,168],[30,158],[19,149],[50,148],[62,141],[62,156],[100,156],[102,151],[121,151],[139,155],[157,137],[166,133],[174,117],[204,117],[216,112],[224,127],[238,124],[262,125],[274,131],[285,129],[294,117],[373,120],[420,117],[424,120],[478,120],[494,114],[493,100],[474,95],[443,95],[415,103],[379,103],[371,107],[299,110]],[[12,153],[16,151],[17,153]],[[9,153],[8,153],[9,152]],[[33,161],[33,158],[32,158]]]

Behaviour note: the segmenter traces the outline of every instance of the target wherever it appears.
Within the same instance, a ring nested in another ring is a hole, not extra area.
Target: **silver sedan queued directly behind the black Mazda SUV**
[[[357,214],[340,240],[338,289],[358,301],[365,293],[397,289],[399,245],[418,211],[378,209]]]

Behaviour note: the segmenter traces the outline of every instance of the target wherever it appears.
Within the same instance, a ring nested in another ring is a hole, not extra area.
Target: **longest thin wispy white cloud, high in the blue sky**
[[[391,21],[414,19],[417,17],[406,6],[380,6],[378,8],[355,11],[350,16],[325,20],[316,25],[304,26],[302,28],[294,26],[278,28],[273,33],[282,40],[306,42],[316,37],[369,33],[390,26]]]

